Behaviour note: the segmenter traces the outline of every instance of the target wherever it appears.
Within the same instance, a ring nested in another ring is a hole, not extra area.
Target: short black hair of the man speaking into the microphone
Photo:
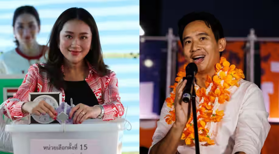
[[[219,39],[224,38],[224,31],[222,28],[222,25],[220,21],[215,18],[214,15],[208,13],[208,12],[191,12],[185,16],[183,16],[179,21],[178,21],[178,34],[179,38],[182,44],[182,47],[184,46],[183,44],[183,31],[186,25],[189,23],[196,21],[196,20],[202,20],[205,22],[206,26],[208,28],[211,28],[216,42],[218,42]],[[220,57],[222,55],[222,52],[220,52]]]

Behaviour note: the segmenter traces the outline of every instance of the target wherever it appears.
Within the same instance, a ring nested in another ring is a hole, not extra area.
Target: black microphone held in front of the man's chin
[[[189,63],[185,68],[185,72],[186,77],[184,77],[183,80],[187,79],[187,83],[182,93],[182,100],[183,102],[188,103],[193,92],[193,85],[195,82],[195,75],[198,72],[198,67],[195,63]]]

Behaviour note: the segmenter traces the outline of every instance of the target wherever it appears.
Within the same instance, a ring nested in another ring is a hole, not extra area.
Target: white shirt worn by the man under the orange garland
[[[228,89],[231,99],[219,106],[219,110],[224,110],[224,117],[213,127],[215,145],[200,145],[201,154],[234,154],[240,151],[246,154],[260,154],[270,130],[267,119],[269,114],[266,112],[263,94],[258,86],[243,79],[239,84],[239,87],[233,86]],[[197,97],[197,107],[198,103]],[[164,118],[169,110],[165,102],[151,147],[164,138],[172,126],[167,124]],[[179,145],[177,150],[181,154],[195,154],[195,146]]]

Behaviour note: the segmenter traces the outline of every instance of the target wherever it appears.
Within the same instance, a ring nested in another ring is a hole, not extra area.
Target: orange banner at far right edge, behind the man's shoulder
[[[279,131],[279,43],[260,44],[261,89],[269,112],[271,128],[262,148],[262,154],[278,153]]]

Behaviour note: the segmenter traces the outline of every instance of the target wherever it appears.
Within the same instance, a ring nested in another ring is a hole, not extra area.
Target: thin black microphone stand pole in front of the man
[[[193,78],[195,80],[195,77]],[[193,83],[192,95],[191,95],[191,103],[193,110],[193,122],[194,122],[194,134],[195,134],[195,150],[196,154],[200,154],[200,147],[198,141],[198,122],[197,122],[197,111],[196,111],[196,91],[195,91],[195,82]]]

